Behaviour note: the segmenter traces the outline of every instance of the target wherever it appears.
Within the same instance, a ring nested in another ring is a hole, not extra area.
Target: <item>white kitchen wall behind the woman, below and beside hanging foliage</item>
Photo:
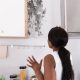
[[[47,34],[50,26],[61,25],[60,16],[60,0],[44,0],[44,6],[47,9],[47,14],[45,17],[45,23],[43,25],[44,38],[30,38],[30,39],[7,39],[0,38],[0,45],[8,46],[8,56],[4,60],[0,60],[0,74],[6,76],[6,80],[9,80],[9,75],[13,73],[19,73],[19,66],[26,65],[26,58],[29,55],[34,55],[38,61],[46,55],[48,51],[47,46]],[[46,25],[46,26],[45,26]],[[45,31],[46,30],[46,31]],[[13,46],[10,45],[32,45],[34,47],[28,46]],[[44,45],[46,47],[44,47]],[[37,47],[36,47],[37,46]],[[76,76],[80,75],[80,39],[71,38],[67,45],[67,48],[71,51],[73,56],[73,65],[75,69]],[[30,70],[29,70],[30,72]],[[30,74],[33,74],[31,72]],[[80,79],[80,78],[79,78]],[[76,78],[75,80],[79,80]]]

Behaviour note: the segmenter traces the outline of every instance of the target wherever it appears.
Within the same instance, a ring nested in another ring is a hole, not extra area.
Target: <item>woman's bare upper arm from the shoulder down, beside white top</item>
[[[44,80],[56,80],[55,61],[51,54],[44,58]]]

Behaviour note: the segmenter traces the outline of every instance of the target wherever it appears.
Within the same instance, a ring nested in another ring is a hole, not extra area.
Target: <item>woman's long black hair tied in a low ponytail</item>
[[[68,42],[67,32],[61,27],[54,27],[49,31],[48,40],[54,47],[59,48],[58,55],[61,59],[63,67],[61,80],[74,80],[70,52],[65,48]]]

